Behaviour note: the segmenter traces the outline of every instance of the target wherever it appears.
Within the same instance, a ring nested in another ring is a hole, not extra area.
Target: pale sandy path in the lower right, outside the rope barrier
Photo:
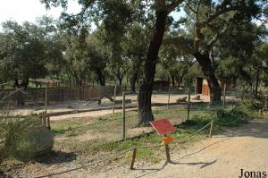
[[[86,177],[154,177],[154,178],[229,178],[239,177],[241,169],[268,174],[268,120],[254,120],[213,139],[199,141],[190,149],[172,152],[174,164],[164,162],[136,166],[135,171],[115,168]],[[77,177],[82,174],[77,174]],[[85,174],[83,174],[85,176]],[[72,176],[71,176],[72,177]],[[76,176],[75,176],[76,177]]]

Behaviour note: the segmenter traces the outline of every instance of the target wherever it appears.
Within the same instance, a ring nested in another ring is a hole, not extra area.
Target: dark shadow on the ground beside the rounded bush
[[[35,161],[46,165],[57,165],[75,160],[77,155],[73,152],[52,151],[49,154],[36,157]]]

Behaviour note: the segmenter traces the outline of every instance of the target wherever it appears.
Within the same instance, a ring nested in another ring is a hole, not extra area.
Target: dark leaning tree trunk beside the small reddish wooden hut
[[[197,62],[201,65],[202,71],[206,77],[208,88],[210,90],[211,103],[221,101],[222,89],[216,78],[214,68],[212,66],[208,53],[201,54],[200,52],[198,52],[197,54],[195,54],[195,57],[197,59]]]

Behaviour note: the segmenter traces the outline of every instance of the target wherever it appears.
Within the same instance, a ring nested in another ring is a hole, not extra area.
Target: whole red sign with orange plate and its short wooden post
[[[154,127],[157,134],[163,136],[162,140],[165,148],[166,162],[172,163],[169,143],[171,143],[173,139],[172,137],[167,136],[167,134],[176,131],[176,128],[167,119],[161,119],[150,123]]]

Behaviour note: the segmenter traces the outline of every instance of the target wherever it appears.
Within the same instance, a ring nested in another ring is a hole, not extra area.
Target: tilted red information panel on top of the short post
[[[176,128],[167,119],[160,119],[160,120],[153,121],[150,123],[154,127],[158,135],[164,135],[164,134],[168,134],[168,133],[172,133],[173,131],[176,131]]]

